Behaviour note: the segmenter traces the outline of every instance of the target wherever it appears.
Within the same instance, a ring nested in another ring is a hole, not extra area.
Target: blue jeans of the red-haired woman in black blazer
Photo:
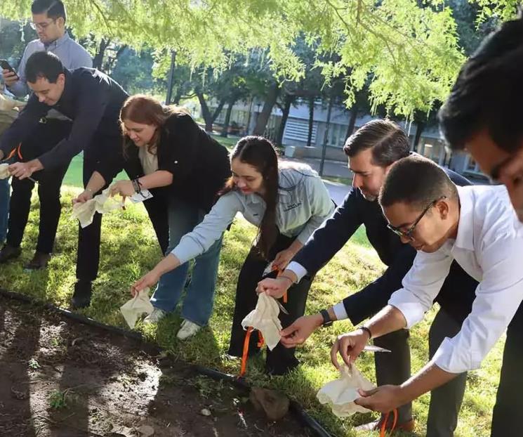
[[[168,210],[169,247],[166,254],[176,247],[183,235],[189,233],[194,229],[194,226],[201,223],[205,214],[205,211],[202,209],[178,199],[171,199]],[[214,242],[207,252],[194,259],[190,284],[187,287],[187,295],[183,301],[182,317],[199,326],[207,324],[213,311],[214,290],[216,288],[222,238],[223,236]],[[189,263],[190,261],[187,261],[178,268],[161,276],[157,289],[151,298],[154,308],[167,312],[171,312],[176,308],[187,280]]]

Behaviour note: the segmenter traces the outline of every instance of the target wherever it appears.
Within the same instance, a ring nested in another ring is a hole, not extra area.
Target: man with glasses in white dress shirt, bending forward
[[[418,254],[403,280],[403,288],[392,294],[388,306],[363,329],[338,337],[331,351],[334,365],[338,365],[338,352],[345,363],[353,362],[370,338],[421,321],[452,261],[479,281],[472,312],[461,331],[445,339],[422,370],[400,386],[361,392],[362,398],[356,401],[372,410],[388,412],[481,365],[523,299],[523,226],[505,187],[456,187],[442,169],[423,157],[407,157],[392,165],[380,192],[380,204],[390,229]],[[514,379],[523,381],[520,375],[515,377],[519,369],[507,372],[505,377],[511,383]],[[514,390],[522,383],[516,384]],[[511,406],[516,422],[521,417],[517,405],[521,403]],[[518,427],[503,426],[501,431],[493,424],[492,436],[517,436]]]

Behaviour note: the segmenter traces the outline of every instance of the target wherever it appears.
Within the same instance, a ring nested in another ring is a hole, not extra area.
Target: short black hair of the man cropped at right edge
[[[484,39],[463,65],[439,124],[451,148],[462,149],[486,129],[507,152],[519,148],[523,137],[523,20],[505,22]]]

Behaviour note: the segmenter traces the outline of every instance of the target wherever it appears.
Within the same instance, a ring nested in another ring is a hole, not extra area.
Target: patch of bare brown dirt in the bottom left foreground
[[[0,436],[307,436],[140,342],[0,296]],[[154,431],[153,434],[150,434]]]

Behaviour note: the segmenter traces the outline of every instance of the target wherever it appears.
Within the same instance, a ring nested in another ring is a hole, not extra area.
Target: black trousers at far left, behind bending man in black
[[[59,120],[48,120],[39,124],[28,141],[22,143],[22,162],[39,157],[44,152],[51,150],[62,138],[69,135],[72,124]],[[69,161],[70,162],[70,161]],[[69,167],[69,162],[54,167],[43,169],[33,174],[33,178],[39,182],[38,197],[40,201],[40,222],[37,241],[37,251],[45,254],[53,252],[58,221],[60,221],[60,187]],[[34,182],[29,179],[20,181],[13,178],[11,182],[13,190],[9,203],[9,220],[7,244],[12,247],[20,247],[22,238],[29,218],[31,208],[31,193]]]

